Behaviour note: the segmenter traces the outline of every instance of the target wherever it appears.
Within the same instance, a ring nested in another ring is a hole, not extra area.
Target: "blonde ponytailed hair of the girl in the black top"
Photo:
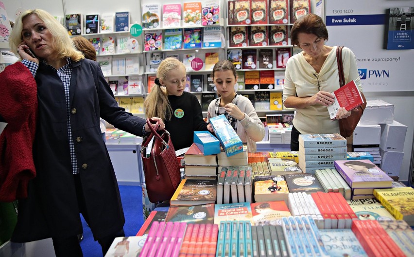
[[[156,77],[160,81],[166,81],[168,73],[180,67],[186,70],[186,66],[181,61],[168,57],[159,64]],[[173,109],[168,101],[168,92],[165,87],[161,88],[161,85],[155,85],[151,89],[151,93],[145,98],[144,109],[147,117],[158,117],[163,120],[171,118]]]

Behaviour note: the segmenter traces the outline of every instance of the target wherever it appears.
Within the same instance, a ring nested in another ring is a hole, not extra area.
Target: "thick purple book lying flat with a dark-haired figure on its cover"
[[[351,188],[385,188],[392,186],[393,179],[369,160],[334,161],[334,165]]]

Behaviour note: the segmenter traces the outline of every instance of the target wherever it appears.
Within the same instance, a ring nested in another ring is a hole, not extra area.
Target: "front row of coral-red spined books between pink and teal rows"
[[[179,256],[214,256],[218,233],[216,224],[188,224]]]

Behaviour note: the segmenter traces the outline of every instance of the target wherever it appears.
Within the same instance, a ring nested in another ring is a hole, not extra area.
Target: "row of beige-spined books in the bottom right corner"
[[[414,256],[414,231],[404,220],[378,220],[406,256]]]

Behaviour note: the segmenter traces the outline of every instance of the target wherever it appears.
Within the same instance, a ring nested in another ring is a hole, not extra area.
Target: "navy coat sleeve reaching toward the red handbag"
[[[114,125],[115,128],[122,129],[137,136],[143,136],[142,128],[146,123],[145,119],[134,116],[132,113],[126,112],[125,109],[118,106],[109,84],[104,78],[99,63],[96,62],[95,65],[97,69],[101,118]]]

